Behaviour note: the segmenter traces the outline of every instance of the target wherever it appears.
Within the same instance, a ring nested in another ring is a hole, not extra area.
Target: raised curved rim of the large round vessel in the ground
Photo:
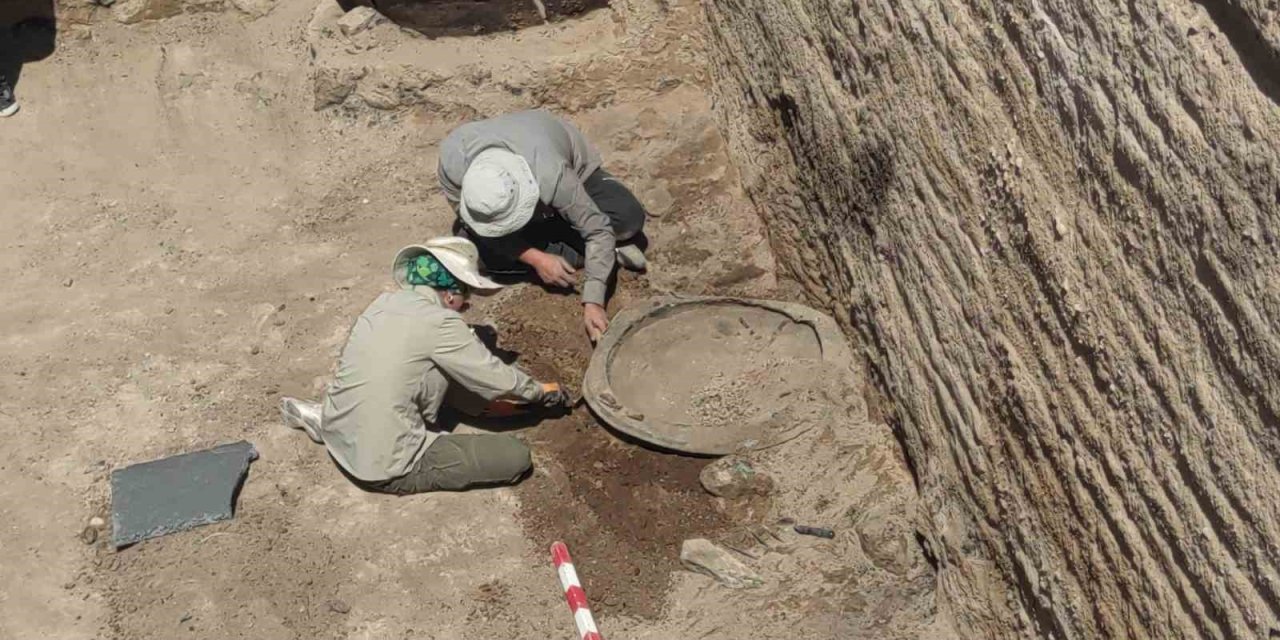
[[[812,422],[790,425],[742,424],[736,428],[707,429],[699,425],[672,422],[646,416],[645,407],[623,406],[611,384],[609,369],[622,344],[643,328],[653,326],[673,312],[690,306],[730,305],[756,307],[783,315],[799,325],[806,325],[817,337],[823,362],[852,362],[852,353],[831,316],[804,305],[765,300],[708,296],[662,296],[636,302],[609,323],[609,330],[600,338],[582,383],[582,397],[591,411],[605,424],[639,440],[663,449],[700,456],[724,456],[764,449],[787,442],[812,429]],[[842,370],[842,369],[840,369]]]

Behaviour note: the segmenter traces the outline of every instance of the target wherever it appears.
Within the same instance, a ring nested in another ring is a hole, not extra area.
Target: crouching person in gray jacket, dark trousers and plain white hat
[[[568,288],[582,270],[582,324],[599,339],[614,265],[648,264],[646,214],[582,132],[547,111],[467,123],[440,142],[436,175],[489,273]]]

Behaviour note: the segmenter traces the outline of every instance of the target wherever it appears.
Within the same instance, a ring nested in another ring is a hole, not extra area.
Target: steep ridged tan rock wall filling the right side
[[[969,637],[1280,637],[1280,12],[705,0]]]

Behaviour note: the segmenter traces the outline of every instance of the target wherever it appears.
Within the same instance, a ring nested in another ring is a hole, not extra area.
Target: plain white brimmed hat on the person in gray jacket
[[[500,238],[529,224],[538,197],[538,179],[522,156],[486,148],[462,175],[458,215],[479,236]]]

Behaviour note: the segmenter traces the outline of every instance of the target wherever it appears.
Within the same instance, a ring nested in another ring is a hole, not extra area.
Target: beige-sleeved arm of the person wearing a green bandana
[[[498,360],[457,314],[448,314],[440,323],[431,361],[451,380],[486,401],[539,402],[544,394],[541,385],[529,374]]]

